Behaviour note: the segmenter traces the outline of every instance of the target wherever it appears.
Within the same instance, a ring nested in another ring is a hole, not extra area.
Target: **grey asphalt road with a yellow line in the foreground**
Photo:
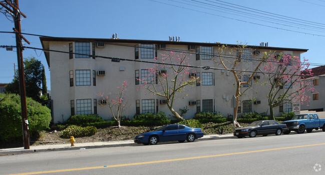
[[[325,174],[324,136],[318,131],[6,155],[0,156],[0,174]]]

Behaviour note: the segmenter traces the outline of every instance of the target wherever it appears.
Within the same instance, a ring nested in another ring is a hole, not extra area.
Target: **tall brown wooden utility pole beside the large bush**
[[[2,5],[4,8],[6,8],[8,13],[12,14],[12,16],[14,18],[14,22],[15,22],[15,28],[13,30],[16,33],[16,46],[17,46],[18,72],[19,72],[19,88],[20,88],[21,107],[22,107],[24,149],[30,149],[22,39],[24,39],[28,44],[30,44],[30,42],[28,42],[21,35],[21,33],[22,33],[21,15],[24,16],[25,18],[26,18],[26,16],[23,13],[21,13],[21,11],[19,10],[18,0],[15,0],[15,4],[12,4],[11,1],[9,1],[9,0],[5,0],[5,2],[7,3],[7,5],[9,7],[7,7],[2,2],[0,2],[0,5]]]

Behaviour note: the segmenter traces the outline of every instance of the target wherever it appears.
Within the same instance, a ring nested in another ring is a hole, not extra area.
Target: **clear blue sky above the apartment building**
[[[184,42],[236,44],[239,41],[253,46],[268,42],[269,47],[309,49],[301,56],[309,59],[311,67],[325,65],[324,0],[227,1],[232,5],[215,0],[35,0],[19,3],[21,12],[27,16],[21,22],[23,33],[80,38],[111,38],[117,33],[120,39],[162,41],[168,41],[169,36],[179,36]],[[0,31],[12,32],[13,27],[14,23],[0,14]],[[39,37],[24,36],[31,42],[25,46],[42,48]],[[15,41],[14,34],[0,33],[0,45],[15,46]],[[15,51],[0,48],[0,83],[13,80],[14,63],[17,65]],[[44,53],[27,49],[23,55],[42,61],[48,89],[51,89]]]

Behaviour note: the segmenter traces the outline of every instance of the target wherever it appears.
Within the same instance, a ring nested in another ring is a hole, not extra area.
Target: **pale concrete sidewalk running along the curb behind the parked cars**
[[[225,139],[232,138],[233,134],[214,134],[214,135],[204,135],[200,140],[214,140],[214,139]],[[158,143],[159,144],[159,143]],[[54,145],[38,145],[30,146],[30,149],[24,149],[24,147],[16,148],[6,148],[0,149],[0,155],[9,154],[20,154],[29,152],[46,152],[46,151],[57,151],[57,150],[75,150],[75,149],[90,149],[90,148],[101,148],[101,147],[116,147],[116,146],[130,146],[130,145],[140,145],[134,143],[133,140],[121,140],[121,141],[102,141],[102,142],[88,142],[88,143],[75,143],[75,146],[71,144],[54,144]]]

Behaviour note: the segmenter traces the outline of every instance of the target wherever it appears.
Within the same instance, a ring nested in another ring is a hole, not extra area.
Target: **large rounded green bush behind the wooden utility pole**
[[[32,98],[26,98],[29,133],[36,135],[49,129],[51,110]],[[23,141],[21,98],[16,94],[0,93],[0,143]]]

